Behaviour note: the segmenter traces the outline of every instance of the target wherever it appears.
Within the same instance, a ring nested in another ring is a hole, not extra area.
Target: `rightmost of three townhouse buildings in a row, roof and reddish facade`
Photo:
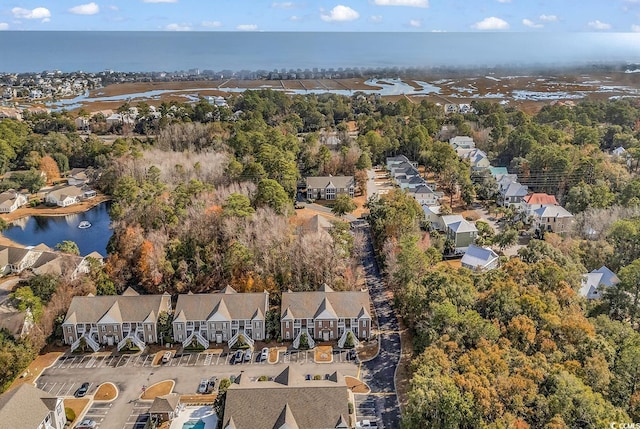
[[[338,340],[343,347],[349,332],[355,343],[371,336],[369,292],[336,292],[324,285],[312,292],[284,292],[280,312],[280,332],[298,348],[302,334],[309,345],[314,340]]]

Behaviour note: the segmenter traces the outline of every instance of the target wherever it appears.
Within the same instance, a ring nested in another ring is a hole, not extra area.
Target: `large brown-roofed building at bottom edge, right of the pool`
[[[241,374],[227,390],[223,429],[348,429],[349,392],[344,376],[309,380],[293,366],[267,381]]]

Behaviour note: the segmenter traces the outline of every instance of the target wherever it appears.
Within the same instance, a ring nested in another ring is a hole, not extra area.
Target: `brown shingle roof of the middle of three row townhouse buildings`
[[[260,309],[258,317],[264,319],[267,301],[264,292],[179,295],[175,313],[184,312],[186,320],[209,320],[216,314],[224,320],[251,320]]]

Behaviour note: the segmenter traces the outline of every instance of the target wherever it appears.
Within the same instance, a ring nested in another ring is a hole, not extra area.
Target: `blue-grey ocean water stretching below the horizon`
[[[640,33],[0,32],[0,72],[640,62]]]

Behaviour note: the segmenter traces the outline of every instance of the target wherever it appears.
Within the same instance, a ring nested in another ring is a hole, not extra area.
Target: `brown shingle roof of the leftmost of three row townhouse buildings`
[[[143,322],[153,313],[153,321],[161,311],[170,309],[171,296],[165,295],[105,295],[75,296],[65,322],[98,323],[107,316],[120,322]]]

